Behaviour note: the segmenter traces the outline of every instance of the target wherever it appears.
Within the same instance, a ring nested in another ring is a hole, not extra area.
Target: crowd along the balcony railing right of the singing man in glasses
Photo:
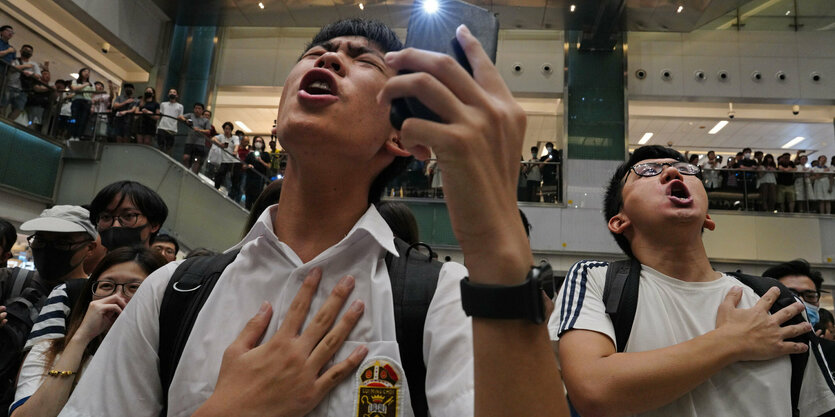
[[[704,171],[704,185],[709,194],[742,193],[744,198],[756,203],[756,210],[767,212],[832,213],[835,156],[828,159],[819,155],[810,162],[803,151],[794,157],[784,152],[775,158],[745,148],[727,160],[714,151],[702,156],[689,155],[689,160]],[[712,204],[718,205],[720,196],[715,194]]]

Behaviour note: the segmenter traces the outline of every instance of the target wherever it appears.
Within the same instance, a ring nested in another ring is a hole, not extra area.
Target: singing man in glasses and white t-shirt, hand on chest
[[[702,233],[716,224],[700,176],[679,152],[646,146],[611,178],[609,231],[641,265],[631,332],[621,345],[604,303],[606,262],[569,270],[549,323],[581,415],[792,415],[789,354],[810,347],[787,339],[812,327],[781,327],[803,311],[801,303],[770,314],[779,291],[760,297],[713,270]],[[799,395],[804,416],[835,409],[829,370],[816,360],[819,349],[812,351]]]

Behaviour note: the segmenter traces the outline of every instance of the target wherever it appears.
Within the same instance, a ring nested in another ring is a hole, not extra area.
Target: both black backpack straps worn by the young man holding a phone
[[[394,243],[400,256],[386,253],[385,261],[394,299],[394,322],[400,360],[408,376],[415,416],[428,416],[423,331],[408,329],[423,329],[443,264],[433,259],[432,248],[425,243],[410,246],[399,238],[395,238]],[[428,248],[429,255],[414,250],[419,246]],[[159,374],[163,393],[160,416],[167,413],[168,389],[197,315],[223,270],[235,260],[238,252],[235,250],[216,256],[187,259],[171,276],[159,314]]]

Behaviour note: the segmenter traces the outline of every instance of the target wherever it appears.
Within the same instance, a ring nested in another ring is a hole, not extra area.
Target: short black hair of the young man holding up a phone
[[[383,53],[403,49],[403,42],[400,41],[397,34],[386,26],[385,23],[373,19],[350,18],[325,25],[313,37],[310,43],[307,44],[304,50],[307,52],[314,46],[321,45],[333,38],[341,36],[360,36],[366,38],[379,47]],[[395,157],[394,161],[383,169],[371,183],[371,187],[368,190],[368,203],[374,204],[380,201],[386,185],[398,175],[402,174],[412,160],[414,160],[412,156]]]

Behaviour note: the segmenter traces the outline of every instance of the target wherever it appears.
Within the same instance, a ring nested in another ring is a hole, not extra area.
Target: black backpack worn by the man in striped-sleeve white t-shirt
[[[626,342],[629,340],[629,334],[632,332],[632,323],[635,320],[635,311],[638,307],[640,274],[641,263],[636,259],[612,262],[606,270],[606,284],[603,289],[603,303],[606,306],[606,314],[608,314],[609,318],[611,318],[612,325],[615,328],[615,340],[618,352],[624,351],[626,348]],[[791,291],[789,291],[788,288],[776,279],[746,275],[740,272],[727,272],[727,274],[750,287],[761,297],[771,287],[780,288],[780,296],[771,307],[771,314],[774,314],[778,310],[797,301]],[[803,319],[803,316],[798,314],[783,323],[782,326],[798,324],[804,321],[805,319]],[[817,338],[812,337],[812,335],[813,333],[809,332],[790,340],[793,342],[811,343],[810,348],[817,349]],[[806,370],[806,362],[808,358],[809,350],[803,353],[790,355],[792,364],[791,399],[793,416],[799,415],[798,403],[800,400],[800,388],[803,382],[803,373]],[[818,360],[820,359],[818,358]],[[827,383],[829,384],[830,389],[835,391],[835,386],[832,385],[831,378],[827,377]]]

